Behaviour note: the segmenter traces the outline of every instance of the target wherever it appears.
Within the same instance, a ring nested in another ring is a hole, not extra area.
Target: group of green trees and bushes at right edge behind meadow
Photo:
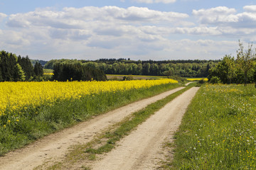
[[[225,55],[218,64],[209,70],[210,83],[248,84],[255,82],[256,87],[256,49],[248,44],[245,50],[239,41],[236,57]]]

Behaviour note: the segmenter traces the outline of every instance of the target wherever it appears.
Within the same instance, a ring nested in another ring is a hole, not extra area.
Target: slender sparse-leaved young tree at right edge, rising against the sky
[[[252,51],[252,44],[248,44],[248,49],[244,50],[242,42],[239,41],[239,49],[237,51],[237,63],[242,75],[244,77],[244,84],[247,84],[247,76],[250,70],[253,68],[253,62],[255,60],[255,53]]]

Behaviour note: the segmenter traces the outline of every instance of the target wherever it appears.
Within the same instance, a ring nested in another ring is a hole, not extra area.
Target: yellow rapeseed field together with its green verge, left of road
[[[172,79],[2,82],[0,154],[92,115],[177,86]]]

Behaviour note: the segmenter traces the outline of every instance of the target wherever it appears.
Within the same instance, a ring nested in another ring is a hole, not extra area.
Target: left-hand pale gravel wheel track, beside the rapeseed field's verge
[[[65,157],[68,147],[77,145],[78,143],[90,142],[93,137],[102,130],[105,130],[110,125],[118,123],[127,115],[141,110],[150,103],[154,103],[161,98],[165,98],[183,87],[167,91],[158,96],[146,98],[142,101],[137,101],[117,110],[111,111],[104,115],[97,116],[85,123],[75,125],[73,128],[68,128],[53,135],[48,135],[42,140],[34,142],[23,149],[17,149],[14,152],[9,152],[5,157],[0,157],[0,169],[15,170],[15,169],[33,169],[36,166],[43,164],[48,160],[58,161]]]

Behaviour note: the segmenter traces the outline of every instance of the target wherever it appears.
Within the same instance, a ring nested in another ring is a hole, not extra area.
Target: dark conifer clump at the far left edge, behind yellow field
[[[0,52],[0,81],[41,81],[43,66],[36,62],[35,65],[26,57],[18,57],[2,50]]]

